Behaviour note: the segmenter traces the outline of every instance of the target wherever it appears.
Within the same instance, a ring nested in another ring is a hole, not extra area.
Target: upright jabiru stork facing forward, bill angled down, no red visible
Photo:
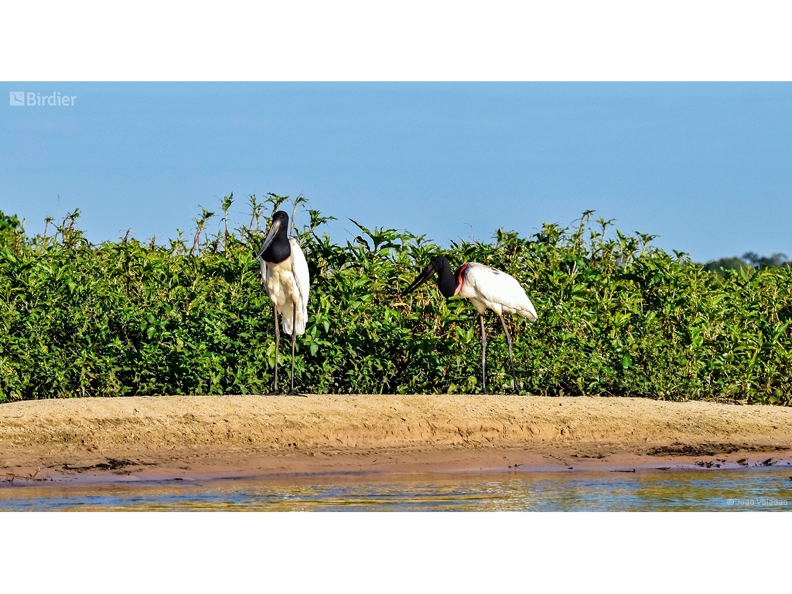
[[[291,336],[291,391],[295,394],[295,340],[305,333],[308,320],[308,263],[294,238],[287,236],[289,215],[277,211],[272,215],[264,245],[258,252],[261,260],[261,277],[267,295],[275,309],[275,390],[278,394],[278,314],[284,323],[284,333]]]

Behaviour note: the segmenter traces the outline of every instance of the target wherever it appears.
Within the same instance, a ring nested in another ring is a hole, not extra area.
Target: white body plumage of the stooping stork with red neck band
[[[497,314],[518,314],[531,322],[538,318],[534,304],[516,278],[483,264],[467,265],[459,296],[479,301]]]

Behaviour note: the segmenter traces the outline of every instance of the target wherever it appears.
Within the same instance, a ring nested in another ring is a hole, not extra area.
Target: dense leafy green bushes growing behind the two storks
[[[247,227],[208,236],[196,218],[188,248],[124,238],[92,246],[78,211],[48,237],[0,230],[0,401],[124,394],[257,394],[271,390],[272,307],[253,256],[267,203],[251,197]],[[296,205],[295,205],[296,206]],[[310,320],[297,341],[305,392],[465,393],[480,389],[477,314],[435,284],[400,293],[432,255],[478,261],[527,288],[539,312],[510,319],[520,390],[790,404],[792,268],[722,271],[650,246],[611,223],[441,249],[406,231],[357,225],[341,245],[309,211],[297,231],[311,274]],[[9,217],[0,220],[5,221]],[[14,219],[16,220],[16,219]],[[48,225],[50,221],[48,220]],[[354,223],[354,222],[353,222]],[[203,234],[203,238],[202,238]],[[508,351],[488,317],[490,388],[508,390]],[[279,363],[287,370],[282,345]]]

